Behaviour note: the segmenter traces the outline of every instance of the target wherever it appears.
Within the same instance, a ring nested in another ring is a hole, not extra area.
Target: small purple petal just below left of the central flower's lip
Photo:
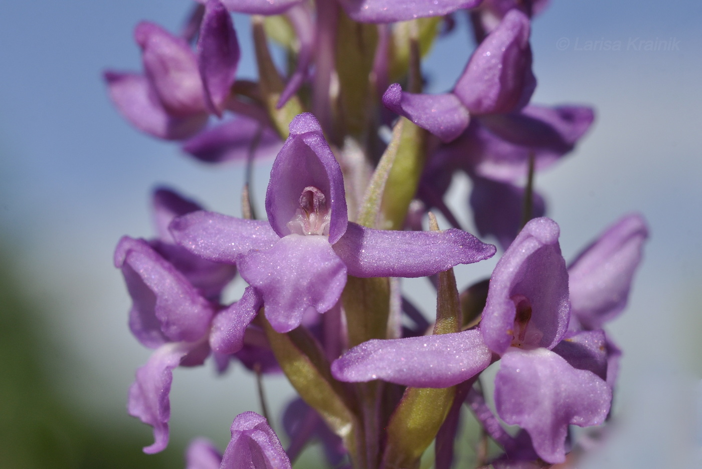
[[[239,301],[220,311],[213,319],[210,332],[212,350],[225,355],[240,351],[244,347],[246,327],[256,318],[261,306],[263,299],[260,295],[253,287],[246,287]]]

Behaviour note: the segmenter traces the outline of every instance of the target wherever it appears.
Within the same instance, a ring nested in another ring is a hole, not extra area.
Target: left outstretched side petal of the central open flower
[[[209,261],[235,264],[241,254],[272,247],[279,237],[267,222],[192,212],[171,222],[176,242]]]

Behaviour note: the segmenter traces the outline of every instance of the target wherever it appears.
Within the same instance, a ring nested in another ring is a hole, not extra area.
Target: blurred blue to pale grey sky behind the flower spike
[[[101,72],[140,69],[136,22],[178,30],[191,3],[0,0],[2,241],[15,247],[18,275],[46,306],[51,350],[58,351],[47,354],[46,369],[55,386],[77,412],[141,431],[145,444],[150,431],[124,406],[133,371],[149,351],[126,328],[130,301],[112,267],[114,245],[124,234],[152,234],[155,184],[237,215],[244,176],[235,165],[198,165],[131,128],[107,99]],[[534,102],[597,109],[578,150],[536,179],[561,226],[564,255],[572,259],[625,212],[642,212],[651,226],[630,307],[611,325],[625,351],[618,419],[585,467],[693,467],[699,457],[701,13],[693,1],[554,0],[534,21]],[[246,18],[235,23],[241,76],[253,77]],[[584,50],[588,41],[602,46]],[[605,41],[621,41],[621,50],[604,50]],[[670,41],[673,50],[637,50],[639,41]],[[471,50],[465,33],[439,43],[424,64],[433,91],[451,88]],[[269,169],[256,168],[259,194]],[[458,207],[468,183],[457,183]],[[459,269],[459,282],[489,274],[494,263],[482,264]],[[434,300],[418,301],[431,307]],[[267,388],[290,393],[282,379]],[[253,380],[238,369],[223,379],[210,367],[176,370],[174,437],[204,434],[223,447],[234,415],[257,409],[253,391]]]

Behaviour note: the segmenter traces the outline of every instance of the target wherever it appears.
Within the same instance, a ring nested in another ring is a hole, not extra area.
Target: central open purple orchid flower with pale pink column
[[[312,114],[300,114],[290,124],[273,163],[265,207],[267,222],[195,212],[174,220],[171,233],[204,259],[237,264],[251,285],[251,306],[237,318],[252,320],[263,301],[278,332],[298,327],[307,311],[329,311],[347,274],[429,276],[495,252],[456,229],[382,231],[349,222],[339,164]],[[228,337],[239,334],[232,329]]]

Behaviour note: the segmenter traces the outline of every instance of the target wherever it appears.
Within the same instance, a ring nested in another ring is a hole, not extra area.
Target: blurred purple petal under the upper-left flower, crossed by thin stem
[[[255,147],[253,147],[255,144]],[[238,116],[207,128],[183,144],[183,151],[205,163],[273,158],[283,142],[272,128],[253,118]]]

